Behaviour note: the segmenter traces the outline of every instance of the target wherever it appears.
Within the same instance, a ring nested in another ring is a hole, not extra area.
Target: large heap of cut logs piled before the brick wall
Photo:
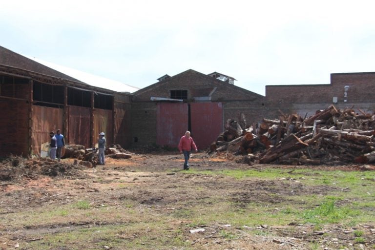
[[[243,162],[292,165],[375,162],[375,115],[333,105],[308,118],[299,115],[263,119],[247,125],[229,119],[209,152],[244,155]]]

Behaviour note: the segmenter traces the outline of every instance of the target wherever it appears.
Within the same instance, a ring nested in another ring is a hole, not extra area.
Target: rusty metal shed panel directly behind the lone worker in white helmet
[[[112,110],[99,109],[94,110],[94,134],[93,144],[98,143],[100,132],[105,133],[106,146],[113,144],[113,117]]]

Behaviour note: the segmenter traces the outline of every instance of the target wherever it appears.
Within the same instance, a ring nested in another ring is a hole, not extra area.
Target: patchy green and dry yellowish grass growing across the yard
[[[288,183],[297,182],[308,187],[307,190],[323,187],[329,191],[299,195],[270,191],[265,195],[269,201],[250,196],[251,199],[247,197],[249,199],[246,200],[246,196],[244,199],[242,196],[234,199],[233,196],[245,192],[244,189],[227,192],[226,187],[223,187],[220,192],[208,195],[209,186],[204,182],[197,182],[199,184],[193,187],[177,188],[181,189],[178,191],[194,192],[192,197],[199,199],[180,199],[173,202],[173,205],[146,206],[131,199],[120,198],[116,206],[100,206],[101,204],[95,204],[91,200],[80,200],[72,204],[51,204],[33,211],[4,214],[1,219],[4,225],[12,225],[16,229],[33,225],[82,225],[76,226],[74,230],[62,229],[56,233],[44,233],[41,240],[23,242],[20,246],[20,249],[36,250],[59,249],[61,246],[69,246],[72,250],[104,249],[104,246],[139,250],[166,249],[165,246],[173,246],[176,249],[188,250],[196,246],[187,242],[190,236],[188,230],[202,225],[209,227],[230,224],[230,228],[217,229],[215,237],[234,242],[242,237],[234,229],[243,226],[255,228],[248,231],[249,234],[270,236],[271,230],[257,227],[283,226],[284,231],[290,230],[290,235],[293,235],[295,228],[287,227],[291,222],[311,225],[314,230],[322,230],[331,224],[345,228],[374,222],[374,171],[318,171],[313,168],[293,171],[277,168],[220,171],[191,169],[181,174],[192,174],[194,178],[221,175],[229,177],[226,179],[228,182],[264,180],[265,185],[267,181],[280,181],[286,184],[285,187],[288,187]],[[125,185],[118,184],[118,187],[124,188]],[[272,199],[277,202],[271,202]],[[171,207],[173,209],[166,209]],[[361,229],[355,230],[353,235],[353,243],[364,244],[368,239]],[[320,244],[311,242],[309,246],[310,249],[319,249]]]

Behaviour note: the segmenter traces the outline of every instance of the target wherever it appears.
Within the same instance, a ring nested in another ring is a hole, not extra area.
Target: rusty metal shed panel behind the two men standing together
[[[41,145],[49,142],[49,132],[62,129],[63,109],[33,105],[32,154],[40,156]]]

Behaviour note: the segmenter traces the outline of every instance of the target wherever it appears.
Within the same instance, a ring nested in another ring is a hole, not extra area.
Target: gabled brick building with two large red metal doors
[[[224,130],[227,119],[258,121],[265,97],[233,85],[235,79],[189,69],[133,93],[133,146],[158,144],[176,147],[186,130],[197,146],[207,148]]]

